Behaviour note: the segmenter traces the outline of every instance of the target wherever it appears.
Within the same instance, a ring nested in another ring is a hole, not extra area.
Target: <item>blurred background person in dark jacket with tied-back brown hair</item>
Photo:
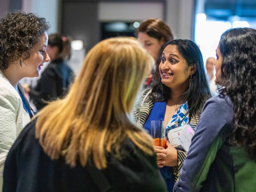
[[[71,38],[58,33],[49,35],[47,53],[51,63],[43,71],[36,87],[23,85],[38,110],[47,105],[46,101],[64,97],[74,80],[73,71],[67,64],[71,56]]]

